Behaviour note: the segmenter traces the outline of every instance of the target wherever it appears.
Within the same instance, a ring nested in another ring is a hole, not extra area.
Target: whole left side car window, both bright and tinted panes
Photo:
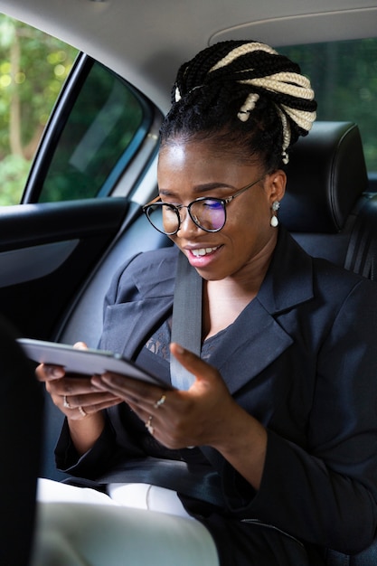
[[[156,146],[156,108],[141,93],[84,53],[5,14],[0,93],[0,206],[107,196],[152,125]],[[151,144],[145,146],[130,189],[146,165]]]

